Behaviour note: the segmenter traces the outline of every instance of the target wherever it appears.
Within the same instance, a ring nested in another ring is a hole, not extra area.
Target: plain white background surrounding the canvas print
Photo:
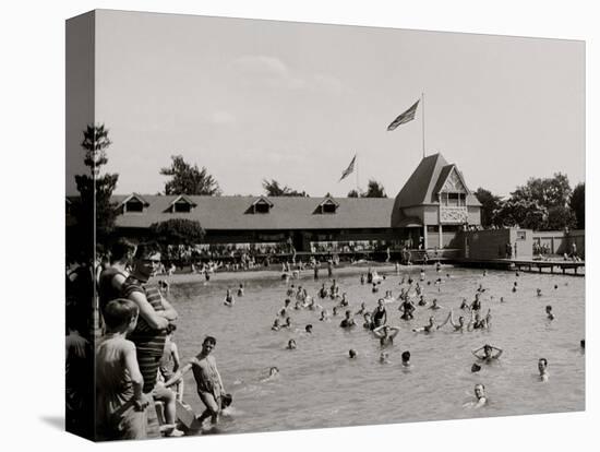
[[[94,8],[277,19],[320,23],[475,32],[587,40],[587,185],[598,157],[598,14],[591,1],[267,1],[205,0],[7,2],[0,13],[0,221],[4,344],[2,360],[2,449],[91,450],[62,431],[63,417],[63,181],[64,20]],[[588,229],[597,215],[588,195]],[[596,197],[595,197],[596,198]],[[588,234],[588,275],[595,275],[597,246]],[[590,450],[600,420],[595,348],[598,289],[588,276],[586,413],[480,420],[405,424],[368,428],[206,437],[99,445],[115,451],[220,450],[307,451],[344,448],[421,450]],[[443,369],[441,369],[443,371]],[[385,409],[385,407],[382,407]],[[588,444],[589,442],[589,444]],[[597,441],[595,441],[597,442]]]

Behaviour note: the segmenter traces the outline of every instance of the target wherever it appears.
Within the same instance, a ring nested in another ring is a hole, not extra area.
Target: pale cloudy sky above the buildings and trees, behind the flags
[[[164,192],[159,170],[182,155],[224,194],[276,179],[345,197],[375,179],[394,197],[423,135],[471,190],[585,179],[583,41],[99,11],[95,45],[116,193]],[[422,94],[415,120],[388,132]],[[80,152],[81,134],[67,140]]]

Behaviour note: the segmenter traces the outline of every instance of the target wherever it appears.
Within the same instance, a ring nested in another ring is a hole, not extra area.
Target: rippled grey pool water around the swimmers
[[[418,281],[419,267],[403,269],[400,275]],[[446,278],[446,273],[451,277]],[[433,282],[442,276],[440,290]],[[458,308],[461,297],[470,302],[479,284],[487,289],[482,296],[482,313],[489,308],[492,322],[489,330],[454,332],[449,324],[431,334],[415,333],[412,328],[427,324],[432,313],[417,307],[415,319],[399,318],[399,302],[386,305],[387,323],[399,326],[394,344],[386,347],[389,364],[380,364],[380,343],[362,328],[362,317],[355,317],[357,326],[339,328],[347,308],[331,322],[319,320],[320,311],[291,310],[292,329],[272,331],[271,326],[283,307],[287,285],[275,277],[243,281],[172,285],[168,298],[179,312],[176,343],[183,362],[201,349],[206,335],[217,338],[214,349],[227,392],[233,395],[229,416],[219,426],[220,432],[274,431],[352,425],[374,425],[417,420],[505,416],[585,409],[585,354],[579,341],[585,337],[585,278],[514,272],[455,269],[444,266],[437,274],[425,269],[421,283],[425,298],[437,298],[443,307],[435,312],[442,322],[449,310],[469,318]],[[369,310],[376,300],[393,290],[399,294],[400,276],[388,274],[379,294],[361,285],[358,274],[339,276],[340,293],[346,292],[349,309],[356,312],[364,301]],[[512,293],[513,283],[518,290]],[[231,308],[224,306],[227,288],[236,293],[240,282],[245,294],[236,297]],[[337,302],[321,300],[317,289],[331,281],[313,281],[312,272],[289,284],[307,287],[327,311]],[[554,288],[557,285],[557,288]],[[542,296],[536,295],[536,289]],[[500,297],[505,301],[500,302]],[[292,301],[293,304],[293,301]],[[552,305],[555,320],[547,320],[544,308]],[[304,326],[313,324],[313,333]],[[286,349],[289,338],[298,348]],[[471,350],[492,344],[504,350],[499,361],[482,364],[481,371],[471,373],[477,360]],[[348,350],[358,353],[348,358]],[[410,350],[412,366],[406,370],[400,354]],[[537,364],[540,357],[549,362],[550,379],[541,383]],[[268,369],[277,366],[279,374],[263,381]],[[196,413],[204,405],[195,393],[191,372],[185,377],[184,401]],[[464,406],[473,400],[476,383],[485,385],[489,403],[473,409]]]

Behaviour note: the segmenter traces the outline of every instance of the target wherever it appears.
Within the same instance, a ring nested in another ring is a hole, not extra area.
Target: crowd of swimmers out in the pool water
[[[380,343],[381,354],[379,362],[389,364],[388,346],[393,345],[394,338],[400,332],[401,326],[389,324],[389,320],[393,318],[393,311],[389,311],[389,308],[386,306],[387,304],[399,301],[397,310],[400,314],[399,319],[404,321],[413,320],[415,313],[418,310],[431,312],[428,316],[428,322],[424,325],[410,329],[413,333],[430,334],[443,328],[447,328],[452,332],[459,333],[491,329],[492,309],[490,307],[484,309],[483,307],[483,294],[489,295],[489,289],[483,287],[482,284],[478,285],[470,301],[467,298],[461,298],[459,300],[459,306],[457,309],[460,311],[460,314],[458,318],[455,317],[455,310],[451,308],[445,316],[445,319],[442,322],[437,322],[435,313],[439,310],[444,309],[444,307],[440,305],[436,298],[432,298],[431,301],[429,300],[428,296],[424,294],[424,286],[430,286],[433,284],[434,287],[436,287],[436,290],[440,292],[440,287],[443,282],[452,276],[447,273],[445,275],[445,279],[441,276],[442,266],[440,263],[435,264],[435,270],[436,277],[433,281],[427,281],[424,270],[420,271],[418,281],[413,279],[412,276],[403,276],[399,282],[399,294],[396,297],[394,296],[393,290],[387,289],[385,292],[385,296],[377,299],[374,308],[368,308],[364,301],[359,301],[360,308],[358,310],[352,310],[349,307],[347,293],[344,292],[335,278],[331,279],[331,285],[327,283],[322,283],[314,296],[309,294],[307,287],[303,287],[302,285],[288,284],[284,306],[276,311],[272,330],[280,331],[283,329],[290,329],[292,325],[291,316],[295,310],[317,311],[320,316],[319,321],[321,322],[331,321],[333,318],[338,317],[340,319],[338,323],[339,328],[348,330],[355,329],[359,324],[355,320],[355,317],[360,316],[362,317],[362,328],[369,331],[372,337],[377,340]],[[397,266],[396,274],[399,274]],[[482,276],[487,276],[485,270],[482,272]],[[516,277],[518,276],[519,274],[517,272]],[[372,293],[379,292],[379,286],[383,281],[385,281],[385,275],[380,276],[371,269],[369,269],[367,275],[361,274],[359,276],[361,285],[372,285]],[[554,289],[557,289],[557,285],[554,285]],[[516,281],[513,283],[511,290],[513,293],[518,290],[518,283]],[[540,288],[536,290],[536,296],[543,296]],[[324,308],[321,304],[317,304],[315,299],[320,299],[320,302],[324,306],[329,305],[331,311],[327,308]],[[492,301],[494,300],[494,297],[489,295],[488,299],[489,301]],[[499,297],[497,300],[500,304],[505,302],[504,296]],[[547,305],[544,310],[547,320],[549,322],[554,321],[555,316],[553,313],[552,306]],[[311,333],[312,329],[312,324],[307,325],[307,332]],[[301,345],[292,338],[288,341],[286,348],[296,349],[299,346]],[[581,349],[585,348],[585,340],[581,340],[580,347]],[[472,350],[476,362],[472,364],[470,371],[473,373],[479,372],[482,365],[497,361],[503,353],[504,350],[502,348],[490,344],[484,344]],[[358,355],[359,354],[355,348],[351,348],[348,352],[349,359],[355,360],[358,358]],[[409,350],[404,350],[401,353],[401,366],[405,368],[411,367]],[[549,380],[548,359],[544,357],[539,358],[537,366],[539,371],[539,381],[547,382]],[[488,402],[484,384],[476,384],[473,391],[475,400],[465,406],[484,406]]]

